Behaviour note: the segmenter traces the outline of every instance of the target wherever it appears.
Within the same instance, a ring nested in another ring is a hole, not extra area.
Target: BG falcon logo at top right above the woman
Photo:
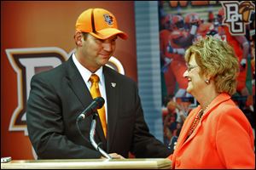
[[[229,26],[230,33],[234,36],[245,35],[246,25],[250,24],[251,14],[255,5],[250,2],[224,2],[224,21],[223,24]]]

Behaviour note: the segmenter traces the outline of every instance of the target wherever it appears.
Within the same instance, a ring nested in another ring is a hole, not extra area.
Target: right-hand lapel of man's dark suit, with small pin
[[[114,140],[114,131],[118,120],[118,101],[119,101],[119,83],[116,78],[108,71],[110,68],[104,66],[103,74],[105,77],[105,87],[108,99],[108,150],[111,150],[111,144]]]

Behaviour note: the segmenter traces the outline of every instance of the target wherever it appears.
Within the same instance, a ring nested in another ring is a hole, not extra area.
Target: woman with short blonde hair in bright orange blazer
[[[226,42],[206,37],[185,54],[187,92],[200,105],[189,113],[168,158],[172,168],[255,168],[253,130],[230,99],[238,61]]]

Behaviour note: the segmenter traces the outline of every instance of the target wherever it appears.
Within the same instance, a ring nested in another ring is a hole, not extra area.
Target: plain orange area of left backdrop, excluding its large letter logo
[[[133,2],[1,2],[1,157],[33,159],[32,146],[24,131],[9,131],[18,106],[17,74],[5,49],[57,47],[69,54],[75,44],[75,22],[86,8],[106,8],[118,20],[128,40],[117,40],[113,54],[125,75],[137,81],[137,56]]]

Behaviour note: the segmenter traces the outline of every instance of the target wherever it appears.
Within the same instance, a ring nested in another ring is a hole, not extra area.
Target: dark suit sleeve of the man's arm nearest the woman
[[[155,139],[154,136],[149,133],[148,125],[144,120],[143,108],[137,92],[136,87],[136,122],[134,127],[132,153],[136,157],[145,158],[166,158],[170,156],[171,150],[167,146]]]

